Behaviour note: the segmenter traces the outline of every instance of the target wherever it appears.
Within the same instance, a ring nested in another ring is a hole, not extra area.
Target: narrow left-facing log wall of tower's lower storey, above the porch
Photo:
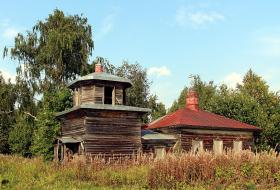
[[[81,137],[85,135],[84,117],[64,120],[61,127],[61,135],[67,137]]]

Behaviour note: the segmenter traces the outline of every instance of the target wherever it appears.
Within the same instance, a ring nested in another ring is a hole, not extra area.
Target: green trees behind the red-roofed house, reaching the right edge
[[[185,107],[187,90],[192,88],[198,93],[200,109],[262,128],[258,148],[280,150],[280,96],[270,92],[260,76],[249,70],[236,89],[203,82],[199,76],[192,79],[191,86],[182,90],[169,112]]]

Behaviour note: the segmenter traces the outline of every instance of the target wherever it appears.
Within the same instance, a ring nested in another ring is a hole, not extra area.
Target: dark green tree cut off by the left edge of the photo
[[[9,153],[9,132],[14,122],[16,94],[10,80],[6,82],[0,73],[0,153]]]

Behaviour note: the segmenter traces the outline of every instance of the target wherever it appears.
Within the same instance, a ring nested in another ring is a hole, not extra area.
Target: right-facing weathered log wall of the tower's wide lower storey
[[[140,114],[128,111],[87,111],[85,151],[92,155],[131,155],[141,149]]]

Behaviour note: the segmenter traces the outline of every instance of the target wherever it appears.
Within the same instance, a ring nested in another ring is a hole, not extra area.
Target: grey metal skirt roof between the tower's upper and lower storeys
[[[133,106],[124,106],[124,105],[111,105],[111,104],[81,104],[75,106],[71,109],[56,113],[56,117],[68,114],[79,109],[92,109],[92,110],[115,110],[115,111],[131,111],[131,112],[142,112],[148,113],[151,112],[151,109],[148,108],[139,108]]]

